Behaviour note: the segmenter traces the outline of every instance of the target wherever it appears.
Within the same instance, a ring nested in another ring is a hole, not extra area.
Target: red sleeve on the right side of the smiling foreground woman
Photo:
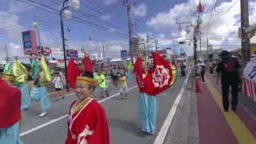
[[[94,133],[87,139],[88,144],[109,144],[110,143],[110,135],[109,135],[109,127],[106,120],[105,111],[102,107],[98,107],[95,110],[96,117],[96,127]]]

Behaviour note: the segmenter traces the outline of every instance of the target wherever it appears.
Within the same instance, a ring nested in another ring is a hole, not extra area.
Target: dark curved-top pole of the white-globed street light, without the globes
[[[65,0],[63,2],[63,5],[62,5],[62,10],[60,12],[60,16],[61,16],[61,27],[62,27],[62,48],[63,48],[63,54],[64,54],[64,66],[65,66],[65,78],[66,78],[66,91],[70,91],[69,89],[69,83],[67,82],[67,69],[66,69],[66,47],[65,47],[65,37],[64,37],[64,27],[63,27],[63,20],[62,20],[62,11],[67,9],[69,6],[65,6],[65,3],[67,2],[68,0]]]

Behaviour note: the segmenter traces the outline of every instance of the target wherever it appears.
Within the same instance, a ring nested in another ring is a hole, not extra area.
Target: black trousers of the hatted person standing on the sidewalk
[[[229,109],[229,91],[231,86],[231,105],[232,107],[236,107],[238,105],[238,82],[225,81],[222,82],[222,105],[223,108]]]

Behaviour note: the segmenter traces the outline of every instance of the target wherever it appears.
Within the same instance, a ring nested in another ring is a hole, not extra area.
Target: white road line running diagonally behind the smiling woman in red
[[[130,87],[129,90],[133,90],[133,89],[136,88],[136,87],[138,87],[138,86]],[[102,99],[102,100],[100,100],[100,101],[98,101],[98,102],[99,102],[99,103],[105,102],[106,100],[109,100],[110,98],[114,98],[114,97],[118,96],[119,94],[120,94],[120,93],[111,95],[109,98],[104,98],[104,99]],[[70,94],[70,95],[71,95],[71,94]],[[65,114],[65,115],[63,115],[63,116],[60,117],[60,118],[53,119],[53,120],[51,120],[50,122],[46,122],[46,123],[44,123],[44,124],[42,124],[42,125],[39,125],[39,126],[37,126],[37,127],[32,128],[32,129],[30,129],[30,130],[26,130],[26,131],[23,132],[22,134],[19,134],[19,136],[22,137],[22,136],[24,136],[24,135],[26,135],[26,134],[30,134],[30,133],[34,132],[35,130],[42,129],[42,128],[45,127],[45,126],[48,126],[48,125],[50,125],[50,124],[52,124],[52,123],[54,123],[54,122],[58,122],[59,120],[61,120],[61,119],[63,119],[63,118],[66,118],[66,117],[68,117],[68,116],[69,116],[68,114]]]

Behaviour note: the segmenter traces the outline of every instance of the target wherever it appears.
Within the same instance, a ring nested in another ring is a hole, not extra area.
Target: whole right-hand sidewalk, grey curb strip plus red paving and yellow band
[[[166,135],[165,144],[256,144],[256,119],[241,103],[235,113],[222,108],[221,84],[206,74],[206,83],[194,92],[190,76],[174,120]]]

